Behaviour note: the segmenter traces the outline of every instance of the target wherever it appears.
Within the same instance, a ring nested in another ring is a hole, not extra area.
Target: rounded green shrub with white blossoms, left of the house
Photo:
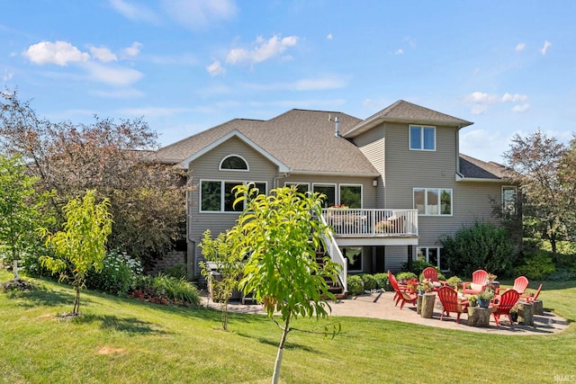
[[[121,296],[128,293],[135,276],[140,273],[142,264],[139,260],[114,250],[104,256],[101,272],[93,268],[86,273],[85,286],[91,290]]]

